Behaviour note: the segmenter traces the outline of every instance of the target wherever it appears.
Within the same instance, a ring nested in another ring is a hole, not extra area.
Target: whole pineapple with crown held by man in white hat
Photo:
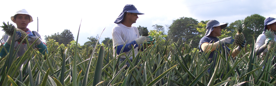
[[[8,25],[5,22],[3,22],[3,24],[4,24],[4,26],[0,26],[0,27],[3,28],[3,31],[5,32],[5,34],[8,34],[9,36],[13,36],[14,30],[16,30],[17,33],[18,32],[21,33],[21,36],[17,40],[17,42],[21,42],[25,38],[25,36],[27,36],[27,38],[28,38],[28,34],[26,32],[24,32],[23,30],[20,30],[18,28],[15,28],[15,26],[12,24],[9,24],[9,22],[8,22]],[[26,43],[26,41],[24,40],[22,43]]]

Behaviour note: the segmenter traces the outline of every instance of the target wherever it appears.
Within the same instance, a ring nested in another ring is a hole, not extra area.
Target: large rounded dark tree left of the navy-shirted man
[[[173,23],[169,27],[168,38],[172,39],[173,42],[177,42],[179,39],[181,41],[187,42],[195,40],[195,36],[199,33],[196,30],[198,27],[198,21],[191,17],[180,17],[179,19],[173,20]],[[198,38],[196,38],[198,39]],[[198,46],[198,41],[192,41],[192,47],[196,48]]]

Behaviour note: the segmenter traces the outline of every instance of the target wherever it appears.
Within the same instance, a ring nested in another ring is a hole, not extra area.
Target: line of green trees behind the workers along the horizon
[[[259,34],[262,33],[262,30],[264,28],[264,19],[265,17],[259,15],[259,14],[253,14],[250,16],[245,17],[244,19],[244,31],[242,32],[246,38],[246,51],[250,49],[250,46],[252,46],[253,38],[257,38]],[[200,39],[205,35],[206,33],[206,23],[209,20],[206,21],[197,21],[197,19],[193,19],[191,17],[180,17],[176,20],[173,20],[171,25],[153,25],[152,27],[154,30],[150,30],[149,34],[153,36],[153,38],[156,38],[156,41],[158,41],[160,46],[166,46],[167,42],[168,44],[172,44],[171,42],[184,42],[189,44],[191,42],[192,48],[198,48],[198,44]],[[239,21],[239,20],[237,20]],[[236,22],[227,23],[228,26],[222,30],[222,36],[219,38],[225,38],[225,37],[234,37],[237,31],[235,31]],[[142,29],[142,26],[137,27],[140,33],[140,29]],[[165,31],[165,28],[167,31]],[[140,34],[141,35],[141,34]],[[99,35],[97,36],[91,36],[87,39],[89,41],[85,42],[83,46],[80,46],[80,50],[85,50],[89,53],[92,53],[92,50],[96,46],[96,42],[98,40]],[[62,33],[55,33],[52,35],[45,36],[46,42],[57,42],[59,45],[64,45],[65,47],[70,45],[70,42],[74,43],[74,36],[70,30],[65,29]],[[103,45],[105,47],[112,48],[112,38],[105,38],[101,43],[98,43],[98,45]],[[57,45],[57,47],[59,46]],[[234,45],[229,45],[230,47],[233,47]],[[56,47],[56,48],[57,48]],[[229,48],[230,48],[229,47]]]

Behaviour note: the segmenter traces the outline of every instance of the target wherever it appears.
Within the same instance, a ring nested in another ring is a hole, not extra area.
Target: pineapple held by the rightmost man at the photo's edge
[[[275,46],[275,36],[273,34],[273,32],[271,30],[266,30],[266,32],[264,32],[264,35],[266,36],[266,38],[271,38],[272,40],[268,41],[267,44],[267,48],[268,50],[272,50]]]

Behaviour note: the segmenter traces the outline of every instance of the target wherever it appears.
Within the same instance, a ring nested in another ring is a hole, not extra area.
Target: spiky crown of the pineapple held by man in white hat
[[[13,35],[13,32],[15,30],[15,26],[13,24],[9,24],[9,21],[8,21],[8,24],[6,24],[4,21],[3,21],[3,25],[4,26],[0,26],[1,28],[3,28],[3,31],[5,32],[5,34],[8,34],[8,35]]]

